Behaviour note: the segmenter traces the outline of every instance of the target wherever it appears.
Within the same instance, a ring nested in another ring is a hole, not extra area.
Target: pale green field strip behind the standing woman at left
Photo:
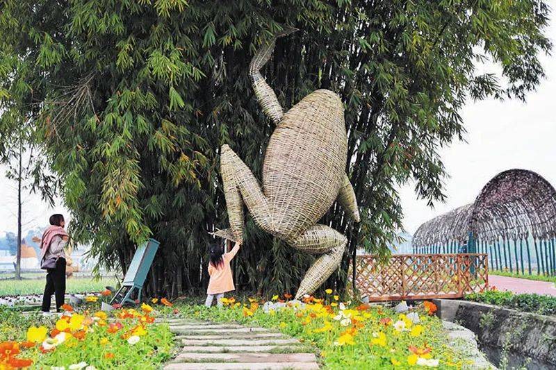
[[[24,278],[23,280],[0,280],[0,296],[42,294],[42,292],[44,292],[44,283],[46,283],[44,278],[46,274],[42,274],[42,278],[37,275],[38,274],[33,274],[33,278]],[[105,289],[106,285],[114,287],[117,285],[117,280],[115,278],[101,278],[101,280],[94,280],[92,278],[68,278],[66,280],[66,292],[100,292]]]

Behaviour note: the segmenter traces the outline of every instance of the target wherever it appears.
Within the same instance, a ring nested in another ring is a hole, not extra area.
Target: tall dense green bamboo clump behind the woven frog
[[[443,199],[439,148],[461,139],[467,99],[525,99],[543,77],[542,1],[3,0],[0,150],[15,126],[33,133],[44,194],[71,210],[71,232],[106,267],[161,242],[149,294],[206,283],[208,231],[227,226],[218,148],[261,178],[272,124],[248,80],[254,50],[283,26],[263,73],[288,109],[318,88],[345,104],[346,163],[361,223],[334,206],[321,222],[381,255],[402,228],[397,189]],[[477,62],[498,69],[478,74]],[[503,80],[502,80],[503,78]],[[502,82],[503,81],[503,82]],[[40,169],[46,166],[41,165]],[[54,176],[51,176],[54,175]],[[246,219],[236,285],[291,291],[311,262]]]

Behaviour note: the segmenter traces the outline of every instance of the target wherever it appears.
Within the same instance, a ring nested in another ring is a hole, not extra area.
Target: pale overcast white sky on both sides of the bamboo
[[[548,33],[555,42],[554,16]],[[556,186],[556,58],[542,56],[541,62],[546,79],[537,92],[528,95],[526,103],[470,101],[461,112],[466,142],[456,142],[441,150],[450,174],[445,181],[445,203],[428,208],[425,201],[416,199],[413,185],[400,190],[404,228],[409,233],[413,234],[420,224],[436,215],[473,202],[481,188],[505,169],[530,169]],[[17,192],[15,184],[3,177],[4,172],[0,167],[0,235],[17,227]],[[40,196],[27,196],[24,230],[46,225],[54,212],[67,215],[60,204],[51,209]]]

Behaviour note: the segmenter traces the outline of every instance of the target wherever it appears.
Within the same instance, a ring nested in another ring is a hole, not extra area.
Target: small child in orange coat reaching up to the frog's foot
[[[223,246],[218,244],[211,246],[208,262],[208,275],[211,276],[211,279],[208,281],[208,288],[206,289],[206,301],[204,303],[206,307],[211,307],[214,297],[216,297],[218,307],[222,307],[224,293],[236,290],[234,279],[231,276],[230,262],[238,253],[240,245],[240,243],[236,243],[228,253],[224,253]]]

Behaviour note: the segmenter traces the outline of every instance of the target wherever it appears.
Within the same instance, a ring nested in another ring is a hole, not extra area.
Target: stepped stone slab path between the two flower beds
[[[306,346],[272,330],[187,319],[165,322],[181,344],[165,370],[319,368]]]

